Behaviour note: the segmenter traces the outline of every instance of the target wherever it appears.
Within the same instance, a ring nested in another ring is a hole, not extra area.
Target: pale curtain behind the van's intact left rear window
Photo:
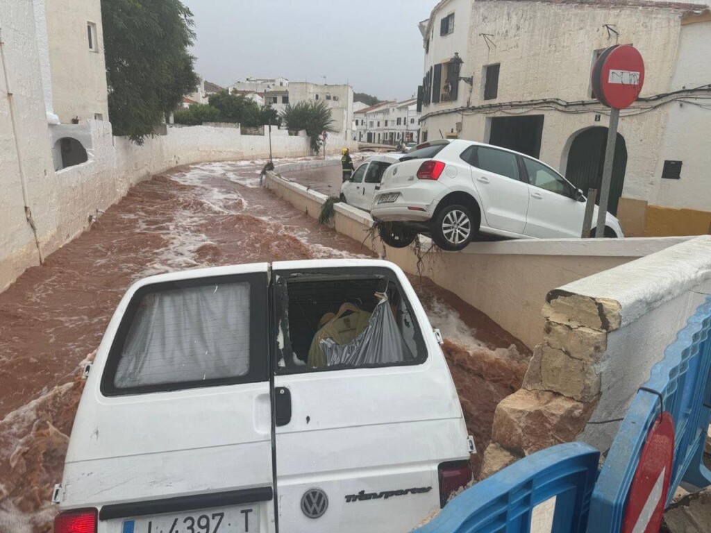
[[[250,284],[171,289],[139,304],[114,377],[119,389],[246,375]]]

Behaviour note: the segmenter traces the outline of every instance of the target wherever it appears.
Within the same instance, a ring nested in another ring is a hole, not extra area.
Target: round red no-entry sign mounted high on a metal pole
[[[607,107],[631,106],[644,85],[644,60],[632,45],[607,48],[592,69],[592,90]]]

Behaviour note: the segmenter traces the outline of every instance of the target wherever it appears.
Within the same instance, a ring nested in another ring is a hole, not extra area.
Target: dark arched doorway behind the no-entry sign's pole
[[[607,128],[597,126],[588,128],[577,134],[570,144],[565,177],[570,183],[587,194],[588,189],[599,190],[602,185],[602,168],[605,163],[605,145],[607,144]],[[624,137],[617,134],[615,159],[612,165],[612,183],[607,210],[613,215],[617,213],[617,204],[622,195],[624,175],[627,168],[627,145]]]

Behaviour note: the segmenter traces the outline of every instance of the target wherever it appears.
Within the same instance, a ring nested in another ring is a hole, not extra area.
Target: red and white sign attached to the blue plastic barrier
[[[621,533],[658,533],[674,459],[674,420],[662,413],[649,430],[629,488]]]

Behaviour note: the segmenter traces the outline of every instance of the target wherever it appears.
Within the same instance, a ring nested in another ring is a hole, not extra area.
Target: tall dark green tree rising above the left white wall
[[[180,0],[103,0],[102,24],[114,134],[143,144],[193,92],[193,14]]]

